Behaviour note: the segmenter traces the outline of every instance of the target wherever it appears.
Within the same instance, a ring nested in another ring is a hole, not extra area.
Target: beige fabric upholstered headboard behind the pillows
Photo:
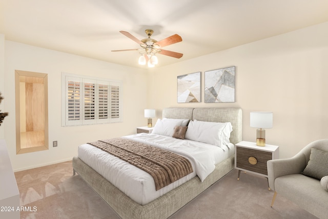
[[[242,110],[240,108],[171,107],[163,109],[162,117],[216,123],[231,122],[233,131],[230,134],[230,142],[237,144],[242,141]]]

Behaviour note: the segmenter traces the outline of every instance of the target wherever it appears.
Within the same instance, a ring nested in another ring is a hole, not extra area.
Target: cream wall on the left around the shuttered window
[[[144,98],[147,95],[145,70],[11,41],[5,41],[5,58],[2,60],[5,61],[5,73],[0,80],[3,81],[4,78],[5,104],[9,116],[0,128],[5,127],[4,138],[14,171],[71,160],[77,155],[77,147],[80,144],[133,134],[136,127],[147,123],[144,118],[144,109],[147,108],[147,100]],[[16,155],[15,70],[48,74],[49,150]],[[122,81],[124,122],[61,127],[61,72]],[[52,147],[53,141],[58,141],[58,147]]]

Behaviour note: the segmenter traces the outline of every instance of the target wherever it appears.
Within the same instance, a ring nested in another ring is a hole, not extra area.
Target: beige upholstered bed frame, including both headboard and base
[[[240,108],[165,108],[162,111],[162,117],[206,122],[231,122],[233,131],[230,142],[237,144],[242,139],[242,111]],[[77,156],[73,157],[74,173],[76,171],[121,218],[168,218],[233,168],[234,156],[231,156],[217,164],[215,170],[203,182],[200,182],[198,176],[195,176],[156,200],[146,205],[139,205]]]

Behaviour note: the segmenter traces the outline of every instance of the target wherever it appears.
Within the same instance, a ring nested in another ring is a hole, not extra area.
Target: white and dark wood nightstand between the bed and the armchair
[[[257,146],[254,142],[239,142],[235,145],[235,169],[264,176],[268,179],[267,161],[279,158],[279,146]],[[268,180],[269,187],[269,180]],[[270,187],[269,187],[269,190]]]

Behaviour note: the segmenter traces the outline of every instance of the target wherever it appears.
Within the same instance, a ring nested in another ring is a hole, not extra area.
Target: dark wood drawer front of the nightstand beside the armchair
[[[253,162],[251,161],[253,164],[249,161],[250,157],[255,157]],[[272,160],[271,152],[236,147],[236,167],[238,168],[268,175],[267,161],[269,160]]]

